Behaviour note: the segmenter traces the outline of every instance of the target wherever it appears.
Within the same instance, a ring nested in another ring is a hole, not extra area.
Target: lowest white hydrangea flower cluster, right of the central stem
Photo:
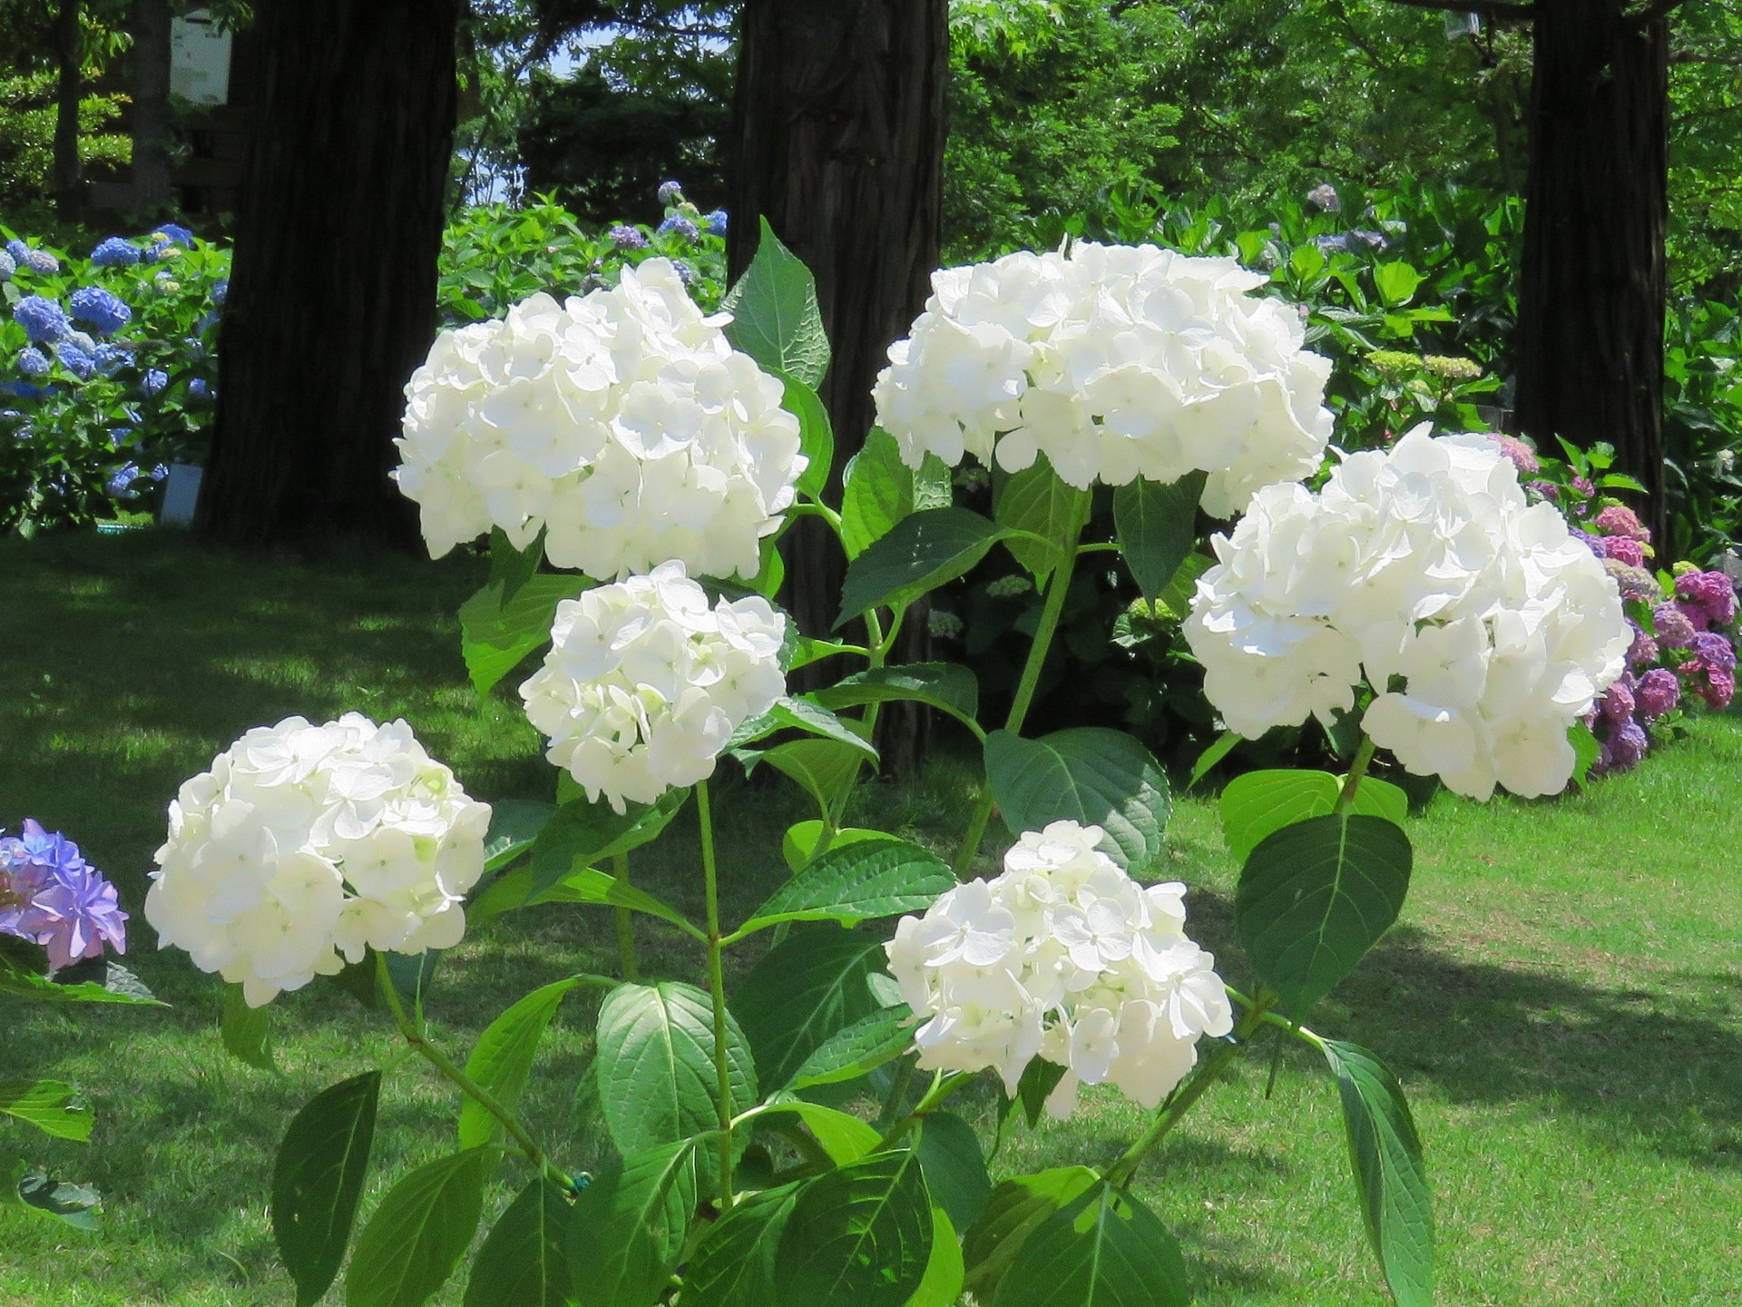
[[[1198,1035],[1233,1028],[1216,958],[1185,936],[1186,887],[1138,885],[1099,850],[1099,826],[1028,831],[995,880],[902,917],[885,945],[923,1070],[996,1068],[1016,1093],[1035,1056],[1066,1068],[1047,1110],[1080,1084],[1155,1107],[1197,1063]]]

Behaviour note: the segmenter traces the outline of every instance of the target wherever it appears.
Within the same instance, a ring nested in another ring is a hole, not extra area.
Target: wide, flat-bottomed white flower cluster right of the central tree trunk
[[[963,450],[1021,471],[1045,453],[1068,484],[1209,472],[1204,507],[1312,476],[1331,439],[1327,359],[1300,314],[1249,291],[1232,258],[1078,242],[941,268],[876,380],[878,425],[918,467]]]

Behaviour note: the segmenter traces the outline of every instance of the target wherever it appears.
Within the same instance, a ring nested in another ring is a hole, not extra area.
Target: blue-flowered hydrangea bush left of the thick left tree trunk
[[[0,532],[152,507],[204,457],[228,251],[174,223],[85,258],[0,235]]]

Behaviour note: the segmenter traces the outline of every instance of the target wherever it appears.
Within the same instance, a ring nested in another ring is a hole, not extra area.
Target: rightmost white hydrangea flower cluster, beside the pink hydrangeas
[[[1329,723],[1366,680],[1362,727],[1411,772],[1472,798],[1552,795],[1568,728],[1625,669],[1615,582],[1489,436],[1416,427],[1317,495],[1261,490],[1212,544],[1185,631],[1247,737]]]

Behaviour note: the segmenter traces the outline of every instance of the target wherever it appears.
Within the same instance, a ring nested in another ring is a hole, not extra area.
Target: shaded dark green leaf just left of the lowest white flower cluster
[[[829,922],[800,924],[770,948],[732,995],[763,1084],[787,1084],[840,1030],[878,1011],[868,976],[883,941]]]

